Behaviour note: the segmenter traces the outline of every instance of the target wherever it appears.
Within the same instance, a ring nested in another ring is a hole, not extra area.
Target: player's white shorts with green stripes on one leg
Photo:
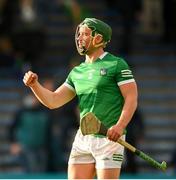
[[[125,140],[125,135],[121,137]],[[68,164],[95,163],[97,169],[121,168],[124,147],[107,138],[83,136],[78,130]]]

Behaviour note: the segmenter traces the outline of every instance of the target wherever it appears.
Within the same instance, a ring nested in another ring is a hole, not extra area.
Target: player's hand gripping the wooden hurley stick
[[[117,142],[117,140],[123,135],[124,129],[119,125],[114,125],[108,129],[107,137],[111,141]]]

